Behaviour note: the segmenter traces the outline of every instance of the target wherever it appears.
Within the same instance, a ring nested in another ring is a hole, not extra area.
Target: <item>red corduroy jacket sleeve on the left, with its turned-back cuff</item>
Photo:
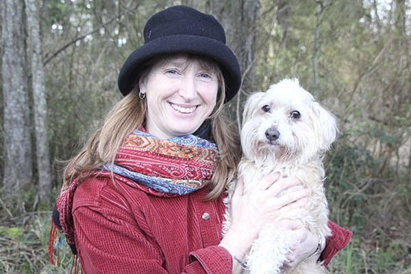
[[[118,201],[103,197],[98,206],[73,209],[83,273],[168,273],[161,248],[144,229],[147,224],[128,213]],[[222,247],[206,247],[187,256],[182,273],[232,273],[231,255]]]

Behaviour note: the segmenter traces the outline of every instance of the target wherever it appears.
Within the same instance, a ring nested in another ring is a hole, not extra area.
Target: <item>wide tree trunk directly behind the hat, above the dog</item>
[[[237,124],[240,129],[242,101],[249,92],[253,91],[253,62],[254,46],[256,42],[256,24],[260,15],[260,1],[237,0],[219,1],[209,0],[206,4],[211,14],[221,22],[227,35],[227,45],[236,53],[242,72],[242,86],[236,96],[235,105]],[[245,95],[245,96],[242,96]]]

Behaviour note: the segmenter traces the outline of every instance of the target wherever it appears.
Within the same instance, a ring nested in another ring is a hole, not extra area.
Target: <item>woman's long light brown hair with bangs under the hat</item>
[[[146,62],[145,68],[138,73],[138,78],[144,81],[151,67],[157,62],[168,62],[171,56],[166,55],[153,58]],[[209,185],[206,199],[216,199],[225,190],[227,184],[234,178],[236,165],[240,160],[240,138],[235,129],[229,127],[228,119],[223,115],[225,100],[225,84],[221,69],[216,62],[199,55],[184,54],[192,62],[198,60],[204,69],[214,71],[219,79],[219,92],[217,102],[212,114],[210,124],[212,136],[219,147],[216,161],[216,171]],[[63,173],[63,184],[67,186],[73,179],[78,178],[82,182],[90,172],[95,171],[102,164],[114,163],[117,151],[123,144],[125,138],[136,128],[144,125],[147,114],[145,99],[138,97],[138,84],[132,92],[125,96],[108,113],[103,125],[86,142],[83,149],[68,161]]]

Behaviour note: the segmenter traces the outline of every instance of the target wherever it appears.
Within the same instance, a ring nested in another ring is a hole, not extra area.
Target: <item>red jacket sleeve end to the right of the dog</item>
[[[320,257],[324,266],[327,266],[336,253],[348,244],[353,234],[353,232],[336,225],[332,221],[328,221],[328,227],[331,229],[332,235],[327,238],[325,249]]]

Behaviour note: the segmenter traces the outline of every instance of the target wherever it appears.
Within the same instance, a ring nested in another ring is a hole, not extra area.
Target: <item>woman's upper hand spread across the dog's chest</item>
[[[266,223],[279,222],[287,213],[301,210],[309,192],[296,186],[302,186],[298,179],[271,173],[244,193],[242,179],[238,178],[231,201],[231,223],[220,246],[242,260]],[[279,196],[283,191],[286,194]]]

